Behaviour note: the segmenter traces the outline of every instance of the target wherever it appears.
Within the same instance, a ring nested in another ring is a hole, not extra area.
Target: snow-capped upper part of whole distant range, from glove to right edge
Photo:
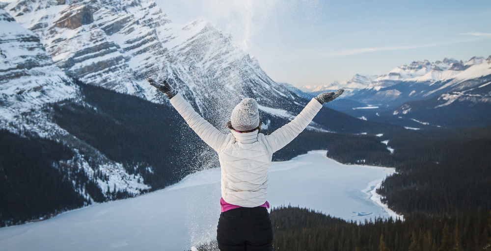
[[[461,83],[466,80],[490,75],[490,61],[491,56],[487,59],[484,57],[472,57],[465,62],[448,58],[433,63],[428,60],[415,61],[409,65],[404,64],[396,67],[392,71],[382,75],[356,74],[352,79],[341,83],[334,81],[329,85],[308,85],[303,86],[301,89],[305,92],[318,94],[322,91],[333,91],[344,88],[348,92],[348,95],[344,96],[344,98],[354,96],[352,99],[365,103],[380,103],[387,100],[396,100],[399,96],[408,96],[412,100],[425,99],[431,97],[436,92],[441,93],[441,90],[444,89],[462,90],[466,87],[471,87],[472,85],[461,85]],[[399,83],[403,83],[400,86],[417,83],[425,88],[423,88],[424,90],[410,90],[407,95],[399,89],[388,88]]]

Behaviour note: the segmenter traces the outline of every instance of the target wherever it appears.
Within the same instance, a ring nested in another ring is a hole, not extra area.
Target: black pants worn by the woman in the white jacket
[[[220,214],[220,251],[271,251],[273,226],[266,207],[239,207]]]

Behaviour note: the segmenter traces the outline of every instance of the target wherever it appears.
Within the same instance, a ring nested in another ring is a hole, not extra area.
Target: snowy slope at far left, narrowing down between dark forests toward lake
[[[74,148],[77,152],[74,159],[54,163],[54,166],[83,169],[101,191],[107,191],[108,187],[116,187],[118,191],[126,189],[131,194],[148,190],[150,187],[143,184],[142,177],[129,175],[121,163],[107,159],[51,120],[52,112],[47,104],[77,99],[78,86],[54,64],[39,38],[17,24],[3,9],[0,9],[0,26],[0,128],[20,135],[51,138]],[[93,152],[92,155],[99,158],[99,165],[90,167],[79,149]],[[95,172],[108,179],[95,176]],[[74,183],[74,189],[91,201],[83,187]]]

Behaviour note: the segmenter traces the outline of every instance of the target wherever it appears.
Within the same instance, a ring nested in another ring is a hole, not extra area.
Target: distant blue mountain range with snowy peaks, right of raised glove
[[[491,123],[491,56],[468,61],[445,58],[402,65],[382,75],[355,75],[349,81],[303,86],[306,94],[345,88],[329,107],[370,121],[408,128],[482,126]]]

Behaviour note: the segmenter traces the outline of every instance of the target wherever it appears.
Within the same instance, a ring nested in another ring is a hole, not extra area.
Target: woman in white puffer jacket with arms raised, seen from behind
[[[265,136],[260,131],[256,100],[246,98],[235,106],[223,134],[208,123],[164,80],[148,82],[163,92],[188,125],[218,153],[221,168],[221,214],[217,241],[221,251],[271,251],[273,228],[269,217],[268,169],[273,153],[290,143],[312,121],[322,104],[344,90],[313,98],[290,123]]]

